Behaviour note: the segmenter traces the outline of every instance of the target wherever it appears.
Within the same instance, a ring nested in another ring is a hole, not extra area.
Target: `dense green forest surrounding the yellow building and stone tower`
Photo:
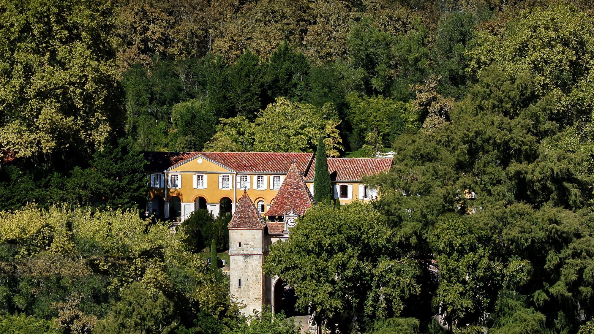
[[[271,247],[330,332],[594,333],[590,70],[589,0],[0,0],[0,332],[296,333],[141,152],[323,144],[396,152]]]

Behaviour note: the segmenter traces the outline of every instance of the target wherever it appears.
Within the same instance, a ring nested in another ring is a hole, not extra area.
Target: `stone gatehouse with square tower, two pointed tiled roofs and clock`
[[[229,292],[245,304],[242,312],[261,311],[262,305],[282,300],[284,285],[278,277],[264,276],[267,246],[289,238],[299,216],[315,203],[307,184],[293,163],[266,215],[266,222],[244,191],[229,222]],[[276,288],[275,288],[276,286]]]

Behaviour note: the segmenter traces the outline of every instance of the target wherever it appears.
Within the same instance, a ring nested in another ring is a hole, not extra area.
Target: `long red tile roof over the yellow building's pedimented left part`
[[[184,160],[203,155],[233,171],[243,173],[282,173],[289,171],[295,159],[299,172],[305,174],[314,153],[266,153],[266,152],[144,152],[149,161],[147,171],[165,171]]]

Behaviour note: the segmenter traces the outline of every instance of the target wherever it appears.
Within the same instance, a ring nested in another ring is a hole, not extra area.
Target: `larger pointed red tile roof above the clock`
[[[299,215],[303,215],[305,210],[309,209],[314,203],[314,197],[309,193],[303,177],[299,174],[297,167],[292,165],[266,215],[284,216],[285,212],[290,209],[299,212]]]

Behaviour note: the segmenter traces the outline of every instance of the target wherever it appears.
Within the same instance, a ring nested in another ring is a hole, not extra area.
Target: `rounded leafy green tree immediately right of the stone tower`
[[[348,332],[372,319],[399,316],[418,295],[418,262],[396,247],[384,218],[369,204],[340,209],[318,203],[270,246],[264,264],[295,289],[296,307],[328,329]]]

